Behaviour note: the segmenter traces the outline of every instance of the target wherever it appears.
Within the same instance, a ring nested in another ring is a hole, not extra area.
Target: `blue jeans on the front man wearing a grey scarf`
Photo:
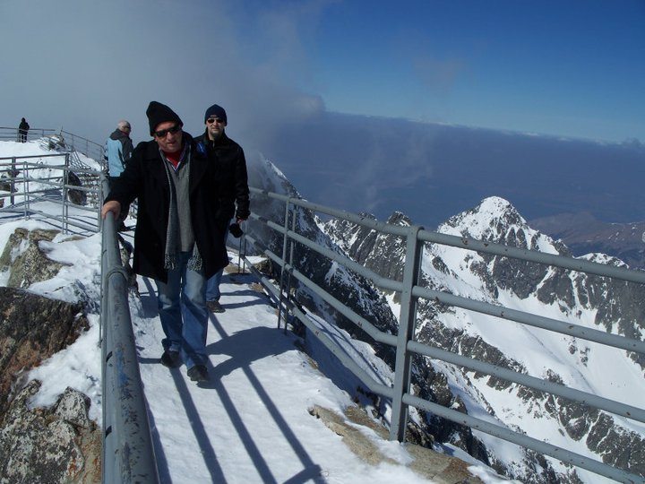
[[[206,363],[208,310],[204,299],[203,271],[187,268],[192,252],[177,255],[177,267],[168,271],[168,282],[155,281],[159,319],[166,338],[164,350],[180,351],[186,367]]]

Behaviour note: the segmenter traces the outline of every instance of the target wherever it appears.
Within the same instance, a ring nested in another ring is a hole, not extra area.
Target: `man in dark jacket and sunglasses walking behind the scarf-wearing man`
[[[219,172],[219,185],[213,187],[219,198],[219,211],[216,221],[224,233],[224,244],[228,237],[229,223],[235,215],[235,222],[230,226],[231,233],[240,237],[242,230],[239,224],[246,220],[249,212],[249,189],[246,175],[246,160],[242,147],[231,140],[224,132],[228,125],[224,108],[213,104],[204,114],[204,134],[195,138],[203,145],[209,160]],[[224,307],[219,304],[219,283],[223,269],[213,275],[206,285],[206,307],[213,313],[223,313]]]

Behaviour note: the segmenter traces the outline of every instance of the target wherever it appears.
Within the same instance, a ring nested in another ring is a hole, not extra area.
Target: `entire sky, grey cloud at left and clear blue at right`
[[[0,125],[147,139],[157,99],[257,143],[324,110],[645,142],[644,25],[645,0],[3,0]]]

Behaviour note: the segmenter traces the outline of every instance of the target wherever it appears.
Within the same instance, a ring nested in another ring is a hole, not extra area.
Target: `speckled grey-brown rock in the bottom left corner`
[[[101,432],[88,418],[90,399],[68,388],[51,408],[30,409],[39,387],[30,381],[4,415],[2,482],[100,482]]]

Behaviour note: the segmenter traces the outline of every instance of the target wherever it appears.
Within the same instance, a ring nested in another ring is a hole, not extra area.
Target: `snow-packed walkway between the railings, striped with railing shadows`
[[[276,310],[252,276],[224,276],[226,312],[210,315],[211,381],[200,385],[185,366],[159,364],[154,285],[138,282],[131,312],[162,482],[430,482],[401,465],[362,462],[309,413],[318,404],[342,414],[351,401],[297,350],[293,334],[277,329]],[[398,443],[379,445],[409,462]]]

